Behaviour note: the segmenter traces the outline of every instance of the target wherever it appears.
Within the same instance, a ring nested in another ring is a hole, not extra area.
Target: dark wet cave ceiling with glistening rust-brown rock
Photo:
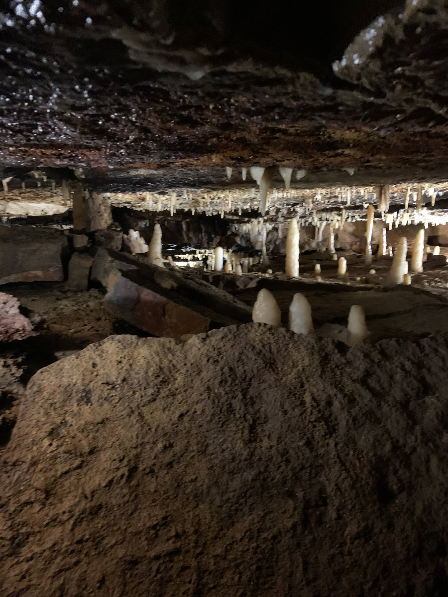
[[[448,179],[448,2],[0,7],[3,176],[82,168],[103,192],[225,188],[253,165],[303,168],[302,186]]]

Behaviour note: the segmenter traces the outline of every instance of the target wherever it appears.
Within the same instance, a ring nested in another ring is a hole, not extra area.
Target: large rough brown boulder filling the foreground
[[[5,597],[446,595],[448,337],[115,336],[39,371]]]

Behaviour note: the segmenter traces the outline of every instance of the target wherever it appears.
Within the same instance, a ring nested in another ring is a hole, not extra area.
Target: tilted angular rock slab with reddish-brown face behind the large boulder
[[[231,294],[199,276],[100,248],[92,277],[108,290],[105,306],[140,330],[180,337],[222,325],[251,321],[251,311]]]

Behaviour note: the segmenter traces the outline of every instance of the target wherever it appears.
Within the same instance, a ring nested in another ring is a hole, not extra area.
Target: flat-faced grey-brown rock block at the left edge
[[[64,279],[61,230],[0,226],[0,284]]]

